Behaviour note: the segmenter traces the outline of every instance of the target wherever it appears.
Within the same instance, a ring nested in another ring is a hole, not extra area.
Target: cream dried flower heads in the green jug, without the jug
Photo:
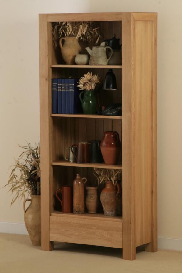
[[[99,79],[100,78],[98,78],[98,75],[92,75],[92,73],[88,72],[84,74],[81,79],[79,79],[79,84],[77,84],[77,86],[79,87],[79,90],[94,90],[96,83],[100,83]]]

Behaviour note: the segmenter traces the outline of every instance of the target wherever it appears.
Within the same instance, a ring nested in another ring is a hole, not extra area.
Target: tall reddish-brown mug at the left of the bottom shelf
[[[62,192],[62,200],[58,197],[57,192]],[[56,197],[61,202],[62,212],[73,212],[73,187],[72,186],[62,186],[61,189],[56,190]]]

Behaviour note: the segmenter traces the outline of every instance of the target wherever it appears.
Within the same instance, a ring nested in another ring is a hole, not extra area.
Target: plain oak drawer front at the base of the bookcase
[[[122,248],[122,222],[50,216],[50,241]]]

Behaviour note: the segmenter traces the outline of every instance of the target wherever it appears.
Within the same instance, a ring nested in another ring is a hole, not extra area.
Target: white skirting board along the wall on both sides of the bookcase
[[[29,235],[25,224],[0,222],[0,232]],[[182,240],[158,237],[158,248],[182,251]]]

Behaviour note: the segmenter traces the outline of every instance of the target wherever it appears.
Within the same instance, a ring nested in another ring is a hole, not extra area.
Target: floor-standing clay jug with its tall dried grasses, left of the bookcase
[[[10,166],[11,174],[9,176],[8,186],[9,192],[15,193],[11,205],[17,198],[24,198],[24,220],[25,226],[29,233],[32,245],[41,245],[40,236],[40,145],[35,144],[32,147],[20,146],[23,151],[18,160],[15,160]],[[5,186],[7,186],[5,185]],[[25,198],[30,194],[31,199]],[[30,201],[30,205],[25,210],[25,202]]]

